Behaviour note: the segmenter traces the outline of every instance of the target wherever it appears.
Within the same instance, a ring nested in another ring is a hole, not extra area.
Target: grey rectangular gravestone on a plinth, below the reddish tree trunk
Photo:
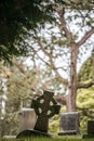
[[[79,133],[79,115],[77,112],[61,114],[59,136]]]

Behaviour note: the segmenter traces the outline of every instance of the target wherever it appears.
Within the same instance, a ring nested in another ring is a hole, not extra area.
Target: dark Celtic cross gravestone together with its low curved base
[[[54,116],[55,114],[58,114],[61,110],[61,105],[57,104],[53,95],[54,92],[44,91],[42,95],[32,100],[31,108],[33,108],[36,112],[37,123],[33,129],[26,128],[26,130],[21,131],[17,134],[17,138],[30,136],[49,136],[49,118]]]

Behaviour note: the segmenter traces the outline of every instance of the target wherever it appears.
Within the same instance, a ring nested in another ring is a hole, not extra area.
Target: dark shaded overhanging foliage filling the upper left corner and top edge
[[[29,30],[56,18],[55,5],[70,9],[92,9],[92,2],[73,0],[1,0],[0,1],[0,60],[9,61],[13,55],[24,55],[28,48],[19,43]],[[90,23],[90,22],[89,22]],[[32,35],[33,36],[33,35]]]

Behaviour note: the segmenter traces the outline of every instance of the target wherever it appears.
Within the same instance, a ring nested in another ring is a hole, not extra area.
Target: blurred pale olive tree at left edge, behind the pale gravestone
[[[21,66],[21,62],[22,61],[18,60],[18,62],[9,69],[1,64],[1,79],[8,79],[5,82],[8,88],[6,99],[4,101],[4,107],[1,106],[0,111],[1,136],[18,133],[21,110],[23,107],[30,107],[31,99],[35,98],[33,89],[36,89],[36,86],[38,85],[36,72],[32,69],[27,69],[24,64]],[[11,75],[9,75],[8,70],[11,72]],[[2,97],[2,94],[3,93],[1,91],[0,97]],[[0,103],[2,103],[1,99]],[[2,108],[4,108],[4,115],[2,113]],[[1,117],[3,117],[2,120]]]

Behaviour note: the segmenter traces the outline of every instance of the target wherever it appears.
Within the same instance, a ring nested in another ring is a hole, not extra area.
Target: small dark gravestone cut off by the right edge
[[[83,134],[83,139],[94,138],[94,120],[88,120],[88,134]]]

